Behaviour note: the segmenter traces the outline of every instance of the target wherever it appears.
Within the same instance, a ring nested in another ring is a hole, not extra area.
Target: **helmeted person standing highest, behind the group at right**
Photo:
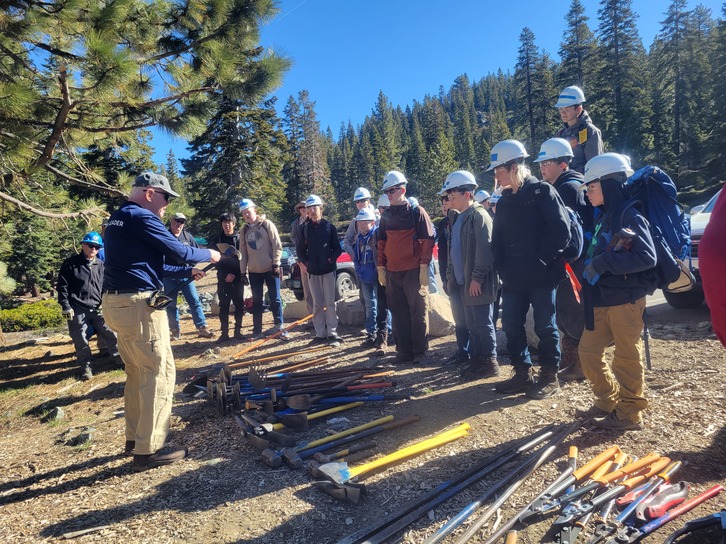
[[[600,129],[592,124],[584,103],[585,93],[572,85],[562,90],[555,104],[563,124],[556,136],[570,142],[573,152],[570,168],[581,174],[585,171],[585,163],[604,151]]]

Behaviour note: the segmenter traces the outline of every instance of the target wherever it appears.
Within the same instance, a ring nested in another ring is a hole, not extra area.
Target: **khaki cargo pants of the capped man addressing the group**
[[[150,308],[148,298],[149,293],[103,295],[103,314],[118,335],[126,367],[126,440],[136,441],[139,455],[164,446],[176,384],[166,311]]]

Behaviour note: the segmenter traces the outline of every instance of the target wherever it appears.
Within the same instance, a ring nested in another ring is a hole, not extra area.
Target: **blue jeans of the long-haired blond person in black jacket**
[[[532,366],[524,324],[530,305],[534,310],[534,332],[539,336],[539,364],[558,368],[560,335],[557,331],[555,299],[557,287],[529,287],[522,291],[502,289],[502,328],[514,366]]]

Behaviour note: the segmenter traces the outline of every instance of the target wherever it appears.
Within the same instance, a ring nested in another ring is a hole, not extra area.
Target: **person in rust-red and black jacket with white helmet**
[[[426,296],[434,226],[423,206],[406,200],[406,177],[391,170],[383,192],[391,207],[378,228],[378,281],[386,287],[396,336],[396,362],[419,364],[428,350]]]

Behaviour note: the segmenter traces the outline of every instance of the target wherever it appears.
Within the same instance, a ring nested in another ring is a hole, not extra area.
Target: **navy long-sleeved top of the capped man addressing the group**
[[[185,246],[164,223],[134,202],[124,203],[106,226],[104,290],[123,292],[163,289],[165,275],[191,276],[192,267],[164,264],[164,258],[187,263],[210,260],[207,249]]]

